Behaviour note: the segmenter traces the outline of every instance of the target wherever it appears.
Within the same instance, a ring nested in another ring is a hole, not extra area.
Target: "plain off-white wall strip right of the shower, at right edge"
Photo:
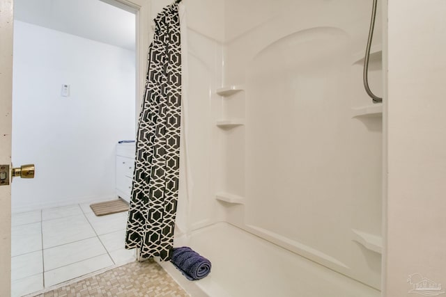
[[[446,2],[388,2],[385,296],[400,297],[413,273],[445,291]]]

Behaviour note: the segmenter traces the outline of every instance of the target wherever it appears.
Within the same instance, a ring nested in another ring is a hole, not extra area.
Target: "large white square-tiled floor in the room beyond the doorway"
[[[95,216],[90,203],[13,214],[12,296],[23,296],[114,264],[124,249],[127,212]]]

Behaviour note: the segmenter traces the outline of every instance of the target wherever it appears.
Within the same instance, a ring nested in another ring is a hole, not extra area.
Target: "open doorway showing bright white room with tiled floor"
[[[116,198],[115,145],[135,133],[135,14],[99,0],[15,0],[12,293],[132,260]],[[122,243],[122,244],[121,244]]]

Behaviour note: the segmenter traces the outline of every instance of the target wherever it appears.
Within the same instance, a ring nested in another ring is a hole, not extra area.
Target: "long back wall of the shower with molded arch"
[[[379,289],[380,253],[354,241],[381,237],[382,116],[352,116],[372,105],[358,61],[371,2],[225,3],[224,81],[244,91],[222,104],[245,120],[226,133],[222,191],[245,198],[229,221]],[[381,74],[376,58],[379,95]]]

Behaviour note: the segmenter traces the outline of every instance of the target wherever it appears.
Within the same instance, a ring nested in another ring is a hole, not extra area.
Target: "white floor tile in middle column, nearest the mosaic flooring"
[[[109,255],[105,254],[56,268],[52,271],[46,271],[44,273],[45,287],[59,284],[67,280],[72,280],[73,278],[78,278],[79,276],[86,275],[112,265],[112,259],[110,259]]]

